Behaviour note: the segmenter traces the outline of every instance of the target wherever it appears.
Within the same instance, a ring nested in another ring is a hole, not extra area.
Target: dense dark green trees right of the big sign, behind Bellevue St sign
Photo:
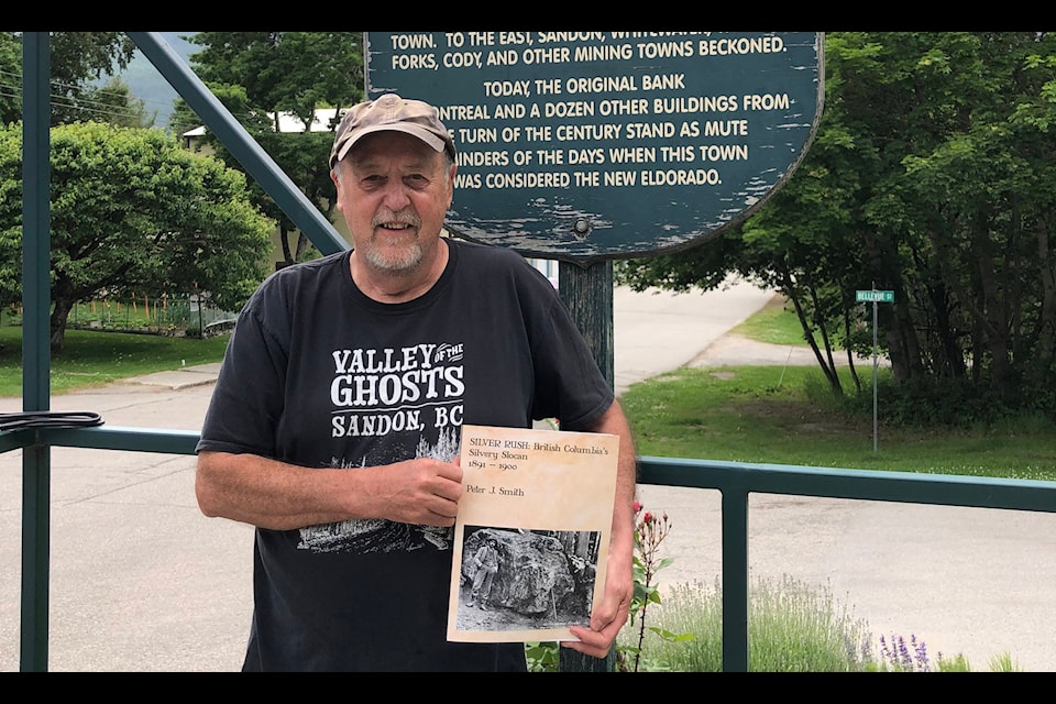
[[[683,254],[682,280],[755,276],[789,296],[809,341],[848,353],[865,342],[850,292],[892,289],[880,328],[903,391],[1053,409],[1032,389],[1056,378],[1054,56],[1044,32],[827,34],[803,163],[724,234],[735,256]],[[625,276],[667,286],[668,264],[629,262]]]

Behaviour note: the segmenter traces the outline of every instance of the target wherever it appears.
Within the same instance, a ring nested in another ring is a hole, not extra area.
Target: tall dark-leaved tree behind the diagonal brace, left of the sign
[[[333,133],[310,128],[319,108],[346,107],[362,99],[362,33],[200,32],[188,38],[205,47],[190,56],[198,76],[332,221],[336,193],[328,161]],[[279,113],[296,116],[302,130],[280,132]],[[177,130],[196,127],[193,120],[186,103],[177,101],[173,120]],[[207,141],[229,166],[242,168],[218,140]],[[301,260],[308,239],[262,189],[255,184],[251,188],[258,207],[278,222],[285,262]]]

